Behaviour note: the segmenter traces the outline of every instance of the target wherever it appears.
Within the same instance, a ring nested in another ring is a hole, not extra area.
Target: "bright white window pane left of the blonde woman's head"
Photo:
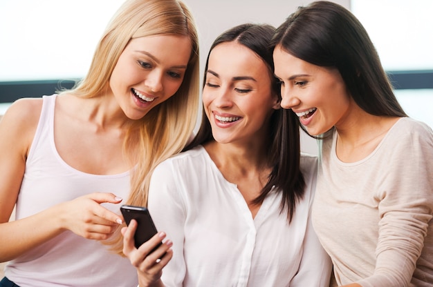
[[[123,1],[1,0],[0,81],[82,77]]]

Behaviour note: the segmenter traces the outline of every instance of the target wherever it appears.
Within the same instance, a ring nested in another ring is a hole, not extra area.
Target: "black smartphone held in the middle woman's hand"
[[[133,237],[136,248],[140,247],[143,243],[151,239],[151,237],[156,235],[156,233],[158,232],[147,208],[142,206],[123,205],[120,206],[120,212],[122,212],[123,218],[125,219],[127,225],[129,225],[131,219],[136,219],[138,223],[136,234]],[[160,244],[158,244],[156,248],[158,248],[159,246]],[[154,250],[156,248],[154,248]],[[153,252],[154,250],[152,250],[151,252]]]

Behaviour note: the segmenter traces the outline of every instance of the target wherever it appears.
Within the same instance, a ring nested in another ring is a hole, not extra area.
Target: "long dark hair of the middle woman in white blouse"
[[[208,59],[205,65],[205,74],[203,85],[206,82],[206,71],[208,70],[208,62],[210,52],[219,44],[225,42],[236,41],[243,46],[246,46],[255,52],[268,66],[270,77],[273,75],[273,50],[269,43],[275,33],[275,28],[266,24],[246,23],[236,26],[230,30],[223,32],[210,48]],[[279,95],[281,99],[279,85],[277,79],[273,79],[273,91]],[[282,190],[283,199],[281,203],[281,211],[287,210],[287,218],[290,222],[295,206],[298,200],[304,195],[304,176],[300,170],[300,123],[296,115],[290,110],[280,108],[275,110],[270,117],[268,141],[270,148],[268,149],[268,162],[273,167],[272,172],[268,177],[268,182],[261,190],[260,195],[252,201],[253,204],[261,204],[270,190],[277,188]],[[208,117],[203,111],[201,127],[196,137],[185,148],[190,150],[195,146],[207,143],[214,140],[212,136],[212,128]]]

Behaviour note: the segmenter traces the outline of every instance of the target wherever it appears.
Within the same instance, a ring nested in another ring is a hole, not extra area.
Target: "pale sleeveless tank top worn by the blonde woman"
[[[16,219],[91,192],[113,192],[124,199],[129,195],[129,172],[91,175],[75,170],[62,160],[53,135],[56,98],[57,95],[43,97],[41,116],[17,200]],[[104,204],[118,214],[120,205]],[[136,268],[128,259],[110,253],[108,247],[99,241],[84,239],[70,231],[10,261],[5,275],[21,287],[120,287],[138,284]]]

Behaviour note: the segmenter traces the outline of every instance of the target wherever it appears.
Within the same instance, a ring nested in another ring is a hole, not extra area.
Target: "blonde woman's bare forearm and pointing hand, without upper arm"
[[[87,239],[107,239],[122,224],[122,217],[101,204],[121,201],[112,193],[94,192],[35,215],[4,222],[0,224],[0,261],[15,259],[65,230]]]

